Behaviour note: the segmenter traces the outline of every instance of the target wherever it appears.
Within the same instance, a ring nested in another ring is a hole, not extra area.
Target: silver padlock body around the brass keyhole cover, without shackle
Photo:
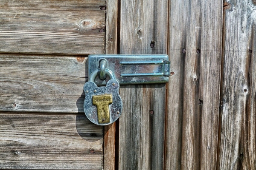
[[[122,99],[119,95],[119,82],[116,79],[110,79],[103,87],[98,87],[94,82],[86,82],[84,91],[84,113],[91,122],[96,125],[109,125],[119,118],[122,113]],[[92,96],[103,94],[112,94],[113,102],[109,105],[110,122],[108,123],[99,123],[97,106],[92,102]]]

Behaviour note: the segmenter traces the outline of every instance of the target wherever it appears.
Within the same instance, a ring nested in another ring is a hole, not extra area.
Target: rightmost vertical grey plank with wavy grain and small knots
[[[224,2],[219,169],[256,168],[256,1]]]

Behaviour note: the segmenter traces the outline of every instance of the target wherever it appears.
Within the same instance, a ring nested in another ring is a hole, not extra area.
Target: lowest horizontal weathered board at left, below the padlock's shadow
[[[1,169],[102,170],[103,130],[85,115],[0,114]]]

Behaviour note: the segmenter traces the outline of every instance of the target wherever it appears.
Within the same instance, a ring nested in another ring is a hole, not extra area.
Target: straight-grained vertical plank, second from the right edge
[[[218,122],[221,82],[222,42],[221,0],[203,1],[201,7],[201,169],[216,169],[218,159]],[[215,16],[215,17],[213,17]]]

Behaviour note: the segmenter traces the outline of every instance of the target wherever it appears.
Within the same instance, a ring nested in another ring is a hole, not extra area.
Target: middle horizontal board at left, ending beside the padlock
[[[0,110],[84,113],[85,57],[0,55]]]

